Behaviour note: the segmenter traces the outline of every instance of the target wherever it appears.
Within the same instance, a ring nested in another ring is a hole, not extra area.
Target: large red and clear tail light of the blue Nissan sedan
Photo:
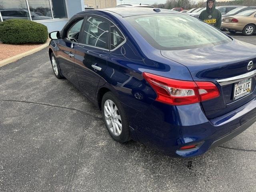
[[[220,95],[212,82],[182,81],[146,72],[143,72],[142,76],[155,90],[156,101],[171,105],[197,103]]]

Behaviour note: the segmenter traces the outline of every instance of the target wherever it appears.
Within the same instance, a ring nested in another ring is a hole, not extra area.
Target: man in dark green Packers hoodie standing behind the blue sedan
[[[204,22],[220,29],[221,27],[221,12],[215,8],[215,0],[207,0],[206,10],[202,11],[199,18]]]

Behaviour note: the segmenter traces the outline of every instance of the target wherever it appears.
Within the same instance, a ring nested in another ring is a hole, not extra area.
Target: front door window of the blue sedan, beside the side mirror
[[[78,42],[80,29],[82,27],[84,18],[79,18],[74,21],[71,27],[67,30],[66,38],[70,41]]]

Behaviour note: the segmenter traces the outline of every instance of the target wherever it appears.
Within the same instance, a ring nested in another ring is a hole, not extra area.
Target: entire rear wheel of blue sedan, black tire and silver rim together
[[[110,136],[117,142],[127,142],[130,138],[130,129],[120,101],[111,92],[106,92],[102,98],[101,108]]]

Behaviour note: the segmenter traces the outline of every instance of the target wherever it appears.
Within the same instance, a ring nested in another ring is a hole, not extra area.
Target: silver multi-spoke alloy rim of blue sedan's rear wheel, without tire
[[[122,133],[122,120],[116,104],[112,100],[106,100],[104,103],[104,118],[108,129],[114,136]]]

